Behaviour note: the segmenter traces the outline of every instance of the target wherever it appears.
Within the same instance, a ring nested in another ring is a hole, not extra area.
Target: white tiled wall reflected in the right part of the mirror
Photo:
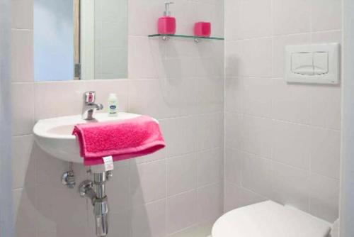
[[[95,1],[95,77],[127,78],[128,1]]]

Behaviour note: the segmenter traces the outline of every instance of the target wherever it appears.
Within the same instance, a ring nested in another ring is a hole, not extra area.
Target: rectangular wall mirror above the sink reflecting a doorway
[[[127,78],[128,0],[34,0],[35,81]]]

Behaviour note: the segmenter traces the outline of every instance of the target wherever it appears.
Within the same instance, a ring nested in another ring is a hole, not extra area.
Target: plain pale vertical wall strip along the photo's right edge
[[[341,172],[341,237],[354,235],[353,90],[354,2],[343,3],[343,145]]]

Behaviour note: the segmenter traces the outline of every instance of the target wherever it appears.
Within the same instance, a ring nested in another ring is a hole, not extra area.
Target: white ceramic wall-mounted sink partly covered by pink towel
[[[108,117],[107,113],[95,114],[95,120],[86,121],[81,115],[42,119],[35,123],[33,133],[36,143],[48,154],[60,160],[83,163],[80,157],[79,144],[72,135],[78,123],[99,123],[135,118],[139,114],[119,113],[116,117]]]

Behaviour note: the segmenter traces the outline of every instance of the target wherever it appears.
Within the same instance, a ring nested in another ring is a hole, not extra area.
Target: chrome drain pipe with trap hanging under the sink
[[[96,236],[103,237],[108,234],[108,198],[105,194],[105,182],[112,177],[113,172],[93,173],[93,182],[85,180],[79,186],[81,197],[91,199],[93,205],[93,214],[96,223]]]

